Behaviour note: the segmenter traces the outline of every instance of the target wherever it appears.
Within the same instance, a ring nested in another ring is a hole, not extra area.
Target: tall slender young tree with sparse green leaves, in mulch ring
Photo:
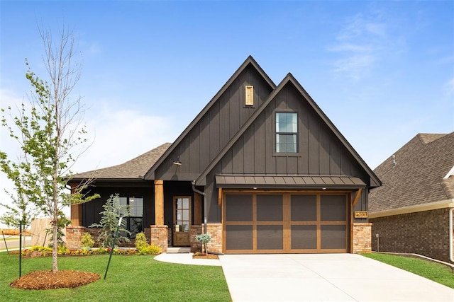
[[[62,208],[86,202],[96,196],[82,194],[88,182],[73,187],[72,192],[67,188],[71,178],[70,168],[88,148],[87,139],[84,139],[87,132],[82,124],[81,97],[74,96],[74,87],[81,75],[81,65],[74,50],[74,35],[63,28],[55,44],[50,30],[40,28],[39,31],[44,45],[43,62],[48,80],[43,81],[36,76],[26,61],[26,78],[33,88],[28,95],[29,104],[22,103],[21,108],[17,108],[17,115],[13,115],[11,108],[8,108],[15,129],[5,116],[2,118],[2,124],[9,129],[10,137],[21,144],[23,157],[19,163],[13,163],[5,152],[0,151],[0,167],[11,180],[17,178],[19,173],[19,187],[29,202],[50,216],[52,271],[57,272],[57,234]],[[6,110],[2,109],[2,112]]]

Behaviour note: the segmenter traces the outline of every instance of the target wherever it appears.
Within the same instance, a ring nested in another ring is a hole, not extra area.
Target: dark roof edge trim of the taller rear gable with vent
[[[229,86],[238,78],[238,76],[248,67],[248,66],[253,66],[256,71],[262,76],[263,79],[270,85],[272,89],[276,87],[276,84],[270,79],[270,77],[263,71],[262,67],[259,66],[257,62],[255,62],[255,59],[252,56],[249,56],[243,64],[235,71],[235,73],[228,79],[228,81],[222,86],[221,90],[214,95],[214,97],[209,101],[208,104],[206,104],[205,108],[201,110],[199,115],[197,115],[194,120],[189,124],[189,126],[184,129],[182,134],[179,135],[179,137],[172,143],[172,145],[165,151],[165,153],[161,156],[161,158],[148,170],[147,173],[145,173],[145,179],[154,179],[154,173],[157,167],[165,161],[165,158],[172,153],[172,151],[178,146],[178,144],[184,139],[184,137],[189,134],[189,132],[196,126],[196,124],[201,120],[202,117],[210,110],[210,108],[216,103],[216,101],[221,98],[221,95],[228,89]]]

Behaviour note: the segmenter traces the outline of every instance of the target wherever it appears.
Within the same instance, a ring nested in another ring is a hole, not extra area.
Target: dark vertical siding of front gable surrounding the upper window
[[[282,97],[282,95],[284,97]],[[297,91],[287,85],[221,161],[223,174],[355,175],[365,173]],[[292,110],[292,111],[289,111]],[[275,113],[297,112],[299,153],[275,153]]]

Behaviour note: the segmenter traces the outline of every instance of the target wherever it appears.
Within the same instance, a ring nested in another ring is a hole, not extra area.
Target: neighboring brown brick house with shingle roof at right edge
[[[454,132],[418,134],[374,171],[383,185],[369,194],[373,250],[449,261]]]

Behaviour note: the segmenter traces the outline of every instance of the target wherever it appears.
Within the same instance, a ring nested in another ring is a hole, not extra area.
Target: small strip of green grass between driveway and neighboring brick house
[[[394,267],[399,267],[408,272],[418,274],[421,277],[431,279],[454,289],[454,274],[452,269],[440,263],[422,260],[414,257],[405,257],[389,254],[363,254],[363,256],[387,263]]]

